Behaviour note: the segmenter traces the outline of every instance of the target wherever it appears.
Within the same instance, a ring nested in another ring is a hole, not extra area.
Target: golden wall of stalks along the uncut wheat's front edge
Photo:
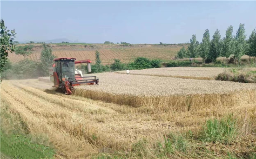
[[[186,112],[256,103],[256,90],[233,91],[224,94],[135,96],[76,89],[74,94],[94,100],[138,107],[141,113]]]

